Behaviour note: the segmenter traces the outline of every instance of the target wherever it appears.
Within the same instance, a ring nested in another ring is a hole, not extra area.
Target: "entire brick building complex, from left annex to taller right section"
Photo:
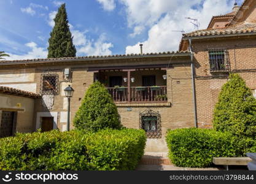
[[[117,104],[122,124],[148,132],[147,151],[165,151],[167,129],[211,128],[212,110],[230,72],[238,72],[256,89],[255,13],[255,1],[235,4],[233,12],[212,17],[208,29],[184,34],[179,52],[0,61],[0,86],[20,91],[0,90],[0,99],[13,101],[10,107],[0,103],[0,114],[14,112],[11,120],[6,116],[0,120],[15,122],[6,126],[12,127],[6,132],[65,131],[64,88],[71,85],[72,129],[88,86],[99,80]],[[21,100],[22,94],[27,101]],[[34,109],[33,118],[25,121],[28,104]],[[6,135],[0,131],[0,136]]]

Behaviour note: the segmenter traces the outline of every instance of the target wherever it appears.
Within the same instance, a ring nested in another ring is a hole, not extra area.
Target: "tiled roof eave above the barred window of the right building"
[[[200,36],[217,36],[225,34],[243,34],[243,33],[256,33],[255,23],[240,23],[239,25],[228,26],[227,28],[220,29],[203,29],[194,31],[192,33],[183,34],[185,37],[200,37]]]

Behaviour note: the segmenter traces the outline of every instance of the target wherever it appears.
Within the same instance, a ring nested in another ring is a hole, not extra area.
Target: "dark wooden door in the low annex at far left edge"
[[[2,112],[2,120],[0,124],[0,137],[12,136],[14,128],[14,112]]]

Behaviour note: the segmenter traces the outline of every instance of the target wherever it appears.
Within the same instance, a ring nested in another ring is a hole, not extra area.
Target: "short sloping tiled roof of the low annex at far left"
[[[16,96],[25,96],[28,98],[40,98],[41,97],[40,94],[31,93],[31,92],[23,91],[23,90],[18,90],[15,88],[9,88],[6,86],[0,86],[0,93],[13,94]]]

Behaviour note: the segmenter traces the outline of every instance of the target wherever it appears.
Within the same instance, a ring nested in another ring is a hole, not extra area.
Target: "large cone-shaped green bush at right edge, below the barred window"
[[[223,85],[214,110],[214,128],[238,137],[256,135],[256,99],[238,74]]]

